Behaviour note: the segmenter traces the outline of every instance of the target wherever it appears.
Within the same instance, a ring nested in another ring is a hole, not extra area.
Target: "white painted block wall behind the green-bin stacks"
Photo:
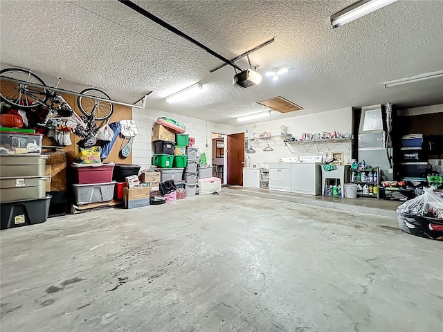
[[[212,139],[211,134],[216,133],[235,133],[235,128],[226,124],[217,124],[214,122],[206,122],[188,116],[181,116],[174,113],[157,111],[155,109],[136,109],[132,108],[132,118],[136,120],[138,127],[138,135],[134,138],[132,146],[132,163],[141,165],[141,169],[145,169],[152,165],[152,154],[154,147],[152,146],[152,127],[156,124],[157,118],[165,116],[183,123],[186,126],[186,133],[190,137],[195,138],[195,147],[200,152],[205,152],[208,163],[212,160]],[[208,147],[206,147],[208,143]]]

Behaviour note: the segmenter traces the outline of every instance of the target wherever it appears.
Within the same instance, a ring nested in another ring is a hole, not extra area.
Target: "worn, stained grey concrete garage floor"
[[[0,236],[1,331],[442,331],[442,243],[394,218],[223,192]]]

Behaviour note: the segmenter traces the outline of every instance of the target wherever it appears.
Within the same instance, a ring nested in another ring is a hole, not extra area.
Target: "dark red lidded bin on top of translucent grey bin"
[[[112,181],[114,164],[87,164],[87,166],[73,164],[72,167],[75,173],[74,183],[78,183],[79,185]]]

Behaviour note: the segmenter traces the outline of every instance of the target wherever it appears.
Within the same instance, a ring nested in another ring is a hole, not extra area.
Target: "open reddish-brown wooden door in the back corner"
[[[228,135],[228,185],[243,185],[244,133]]]

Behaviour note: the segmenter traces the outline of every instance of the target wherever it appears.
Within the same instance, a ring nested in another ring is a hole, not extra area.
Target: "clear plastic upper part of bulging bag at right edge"
[[[425,188],[424,194],[406,201],[397,208],[399,215],[428,216],[443,219],[443,199],[432,190]]]

